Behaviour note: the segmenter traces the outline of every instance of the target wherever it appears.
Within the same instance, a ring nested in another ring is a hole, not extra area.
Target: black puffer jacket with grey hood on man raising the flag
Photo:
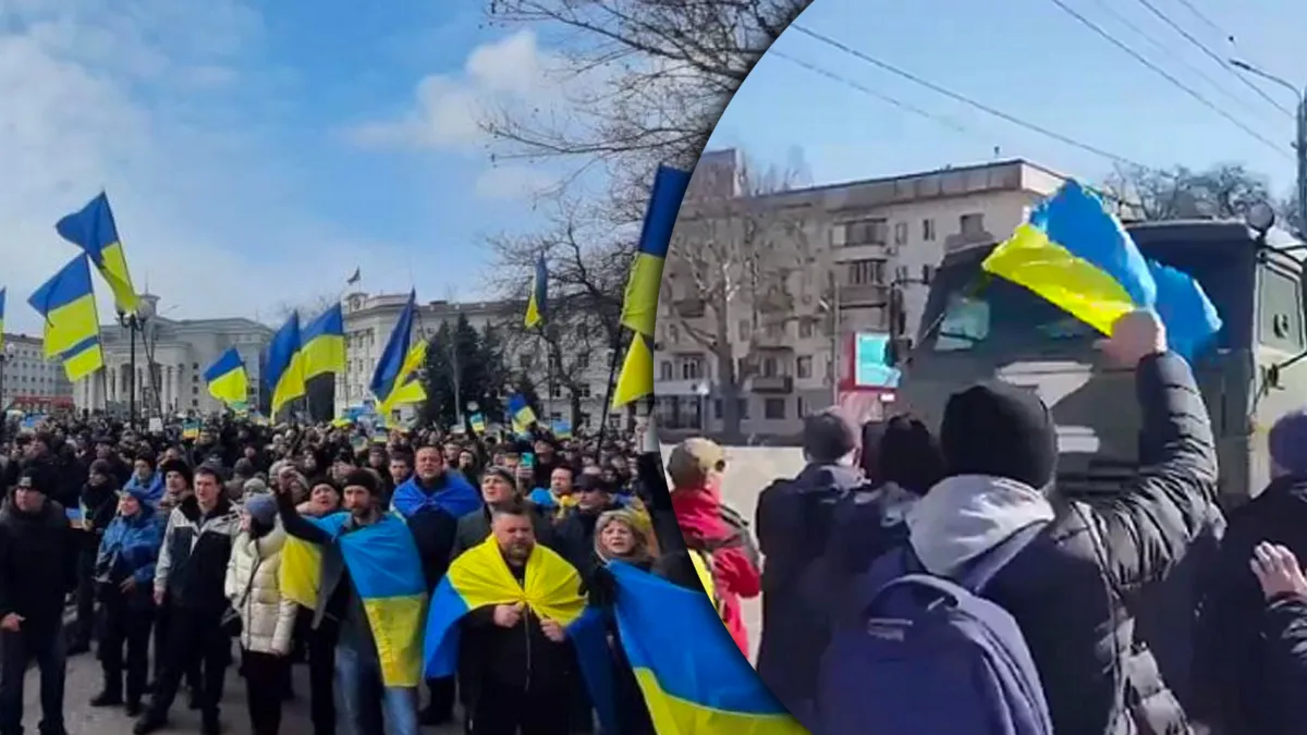
[[[1216,504],[1216,445],[1183,358],[1144,360],[1136,391],[1141,468],[1120,490],[1072,498],[1014,480],[955,476],[907,515],[912,551],[941,575],[955,575],[1017,530],[1047,522],[985,596],[1021,626],[1059,735],[1189,731],[1140,645],[1132,609],[1202,532]]]

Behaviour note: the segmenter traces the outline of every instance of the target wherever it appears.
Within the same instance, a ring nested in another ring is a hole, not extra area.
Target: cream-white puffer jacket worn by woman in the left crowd
[[[290,653],[297,607],[281,594],[281,549],[285,545],[286,531],[281,523],[260,538],[242,531],[231,543],[223,587],[231,607],[240,615],[240,647],[247,651]]]

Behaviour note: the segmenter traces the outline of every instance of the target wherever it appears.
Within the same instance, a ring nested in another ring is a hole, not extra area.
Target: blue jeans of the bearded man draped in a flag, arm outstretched
[[[346,645],[336,646],[336,691],[341,725],[348,735],[383,735],[382,717],[391,735],[420,735],[417,687],[386,687],[382,667]]]

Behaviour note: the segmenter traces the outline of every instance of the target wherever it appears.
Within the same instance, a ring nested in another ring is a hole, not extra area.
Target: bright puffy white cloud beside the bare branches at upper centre
[[[461,75],[423,77],[408,111],[346,133],[366,146],[468,149],[485,143],[481,122],[501,109],[540,112],[566,101],[559,59],[527,29],[472,50]]]

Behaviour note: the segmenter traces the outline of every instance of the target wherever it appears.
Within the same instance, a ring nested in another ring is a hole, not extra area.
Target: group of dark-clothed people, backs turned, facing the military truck
[[[1059,487],[1031,391],[983,383],[937,433],[806,420],[808,464],[758,501],[758,672],[819,735],[1282,735],[1307,679],[1307,412],[1265,436],[1273,481],[1229,514],[1189,365],[1117,322],[1137,475]],[[946,704],[945,704],[946,702]]]

